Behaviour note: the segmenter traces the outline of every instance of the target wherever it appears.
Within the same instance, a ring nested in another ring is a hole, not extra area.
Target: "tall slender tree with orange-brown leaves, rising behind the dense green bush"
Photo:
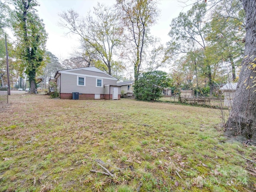
[[[124,26],[128,29],[127,48],[134,67],[134,80],[138,80],[144,48],[150,42],[150,26],[158,16],[155,0],[117,0]],[[130,47],[128,47],[130,46]]]

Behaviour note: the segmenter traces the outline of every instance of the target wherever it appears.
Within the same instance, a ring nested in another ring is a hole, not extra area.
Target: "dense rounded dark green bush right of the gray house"
[[[164,88],[170,86],[170,78],[163,71],[141,73],[134,84],[134,95],[139,100],[157,100]]]

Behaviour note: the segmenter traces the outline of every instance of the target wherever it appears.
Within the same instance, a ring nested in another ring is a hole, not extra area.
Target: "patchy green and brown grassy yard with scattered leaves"
[[[24,94],[0,117],[1,192],[256,190],[256,148],[228,142],[219,110]]]

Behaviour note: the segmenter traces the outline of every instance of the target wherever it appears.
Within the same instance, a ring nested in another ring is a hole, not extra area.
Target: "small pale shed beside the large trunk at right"
[[[224,106],[231,107],[236,92],[237,83],[227,83],[220,90],[224,93]]]

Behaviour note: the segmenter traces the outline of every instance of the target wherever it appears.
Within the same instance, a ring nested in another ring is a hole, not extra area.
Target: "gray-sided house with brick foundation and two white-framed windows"
[[[61,99],[120,99],[121,86],[116,84],[117,81],[96,67],[61,70],[50,78]]]

